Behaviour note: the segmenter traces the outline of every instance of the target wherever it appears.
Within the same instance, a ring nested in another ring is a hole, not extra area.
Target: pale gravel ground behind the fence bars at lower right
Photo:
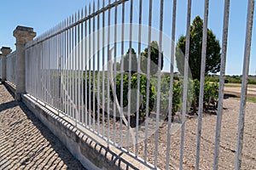
[[[224,113],[221,127],[221,141],[219,151],[219,169],[235,169],[236,138],[239,117],[240,100],[224,99]],[[246,125],[243,142],[243,156],[241,169],[256,169],[256,103],[247,102]],[[216,130],[216,115],[204,114],[201,132],[200,168],[212,169]],[[195,169],[195,149],[197,133],[197,116],[188,119],[185,124],[183,169]],[[166,168],[167,124],[160,127],[158,143],[158,167]],[[148,161],[154,163],[154,141],[152,135],[148,139]],[[178,169],[181,143],[181,129],[171,137],[170,168]],[[144,146],[139,144],[139,156],[143,157]]]

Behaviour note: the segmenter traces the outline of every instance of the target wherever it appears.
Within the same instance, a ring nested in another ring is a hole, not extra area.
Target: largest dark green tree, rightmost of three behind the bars
[[[202,46],[203,20],[196,16],[190,26],[189,35],[189,68],[193,79],[200,80],[201,75],[201,46]],[[183,74],[184,54],[186,47],[186,37],[178,39],[176,48],[177,69]],[[207,56],[206,56],[206,75],[216,73],[220,70],[220,45],[211,30],[207,30]]]

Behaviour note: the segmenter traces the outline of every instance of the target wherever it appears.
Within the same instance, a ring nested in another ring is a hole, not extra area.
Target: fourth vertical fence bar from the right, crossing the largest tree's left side
[[[189,35],[190,35],[190,17],[191,17],[191,0],[188,0],[187,9],[187,30],[186,30],[186,49],[184,59],[184,79],[183,79],[183,119],[182,119],[182,133],[181,133],[181,146],[179,157],[179,169],[183,169],[183,153],[184,153],[184,136],[185,136],[185,120],[187,110],[187,92],[188,92],[188,70],[189,70]]]

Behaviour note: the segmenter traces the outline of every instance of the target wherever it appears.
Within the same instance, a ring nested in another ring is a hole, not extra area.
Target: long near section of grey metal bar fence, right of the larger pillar
[[[96,133],[105,139],[108,145],[112,144],[150,168],[156,168],[159,165],[158,156],[161,144],[159,129],[166,119],[168,133],[164,155],[166,155],[165,167],[169,169],[172,164],[170,162],[174,102],[172,92],[177,83],[173,79],[177,2],[176,0],[172,2],[172,7],[170,7],[172,8],[172,20],[163,20],[165,6],[163,0],[119,0],[108,3],[98,1],[73,14],[67,20],[63,20],[59,25],[26,44],[26,92]],[[214,169],[218,169],[230,14],[230,0],[224,2]],[[135,14],[135,4],[138,7],[136,8],[137,14]],[[158,6],[160,9],[155,12],[153,6]],[[198,129],[195,141],[195,169],[200,167],[208,8],[209,1],[206,0],[203,19],[200,98],[197,111]],[[236,169],[241,168],[253,9],[254,0],[249,0]],[[155,15],[159,17],[157,24],[152,22]],[[177,115],[181,116],[180,169],[183,169],[185,121],[190,107],[188,106],[190,96],[187,93],[190,90],[190,17],[191,0],[188,0],[186,49],[183,58],[184,74],[179,79],[183,83],[181,90],[183,94],[180,95],[181,100],[177,109]],[[163,25],[170,21],[172,21],[172,30],[170,30],[172,36],[169,38],[163,32]],[[153,41],[157,43],[152,43]],[[143,48],[145,48],[144,51]],[[126,49],[128,49],[127,53]],[[150,58],[152,53],[147,52],[153,49],[157,49],[158,53],[158,60],[154,62]],[[164,58],[161,57],[162,55]],[[137,61],[133,60],[134,56]],[[8,57],[10,72],[15,71],[15,62],[10,62],[11,59],[15,59],[14,54]],[[161,71],[163,59],[170,69],[167,78],[164,77],[166,74]],[[137,63],[135,67],[134,62]],[[11,75],[8,79],[14,82],[15,79]],[[164,87],[166,82],[167,85]],[[152,135],[154,139],[148,140]],[[154,159],[148,158],[149,152],[154,155]]]

